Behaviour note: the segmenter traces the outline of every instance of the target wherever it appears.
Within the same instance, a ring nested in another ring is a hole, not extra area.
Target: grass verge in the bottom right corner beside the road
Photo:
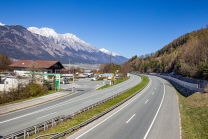
[[[178,93],[183,139],[208,139],[208,94]]]

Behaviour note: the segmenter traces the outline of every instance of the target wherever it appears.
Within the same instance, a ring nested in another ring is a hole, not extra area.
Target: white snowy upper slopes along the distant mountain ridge
[[[39,34],[45,37],[51,38],[55,43],[60,45],[63,49],[68,47],[75,51],[88,51],[88,52],[99,52],[97,48],[84,42],[71,33],[58,34],[51,28],[37,28],[29,27],[28,30],[32,33]]]

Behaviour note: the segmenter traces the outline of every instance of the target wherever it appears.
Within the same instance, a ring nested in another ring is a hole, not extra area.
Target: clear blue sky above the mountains
[[[208,0],[0,0],[0,22],[72,33],[127,58],[208,25]]]

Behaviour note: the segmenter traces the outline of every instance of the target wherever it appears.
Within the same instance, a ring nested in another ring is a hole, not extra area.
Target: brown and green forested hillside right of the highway
[[[133,56],[131,70],[179,74],[185,77],[208,79],[208,26],[187,33],[161,50],[145,56]]]

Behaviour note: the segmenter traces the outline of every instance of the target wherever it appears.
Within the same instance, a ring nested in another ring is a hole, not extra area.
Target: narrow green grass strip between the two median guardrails
[[[129,96],[135,94],[136,92],[138,92],[139,90],[141,90],[142,88],[144,88],[148,82],[149,79],[146,76],[142,76],[142,82],[140,84],[138,84],[137,86],[133,87],[132,89],[130,89],[129,91],[126,91],[125,93],[117,96],[114,99],[111,99],[105,103],[103,103],[100,106],[94,107],[93,109],[90,109],[86,112],[83,112],[79,115],[76,115],[74,117],[74,119],[70,119],[64,123],[59,124],[58,126],[51,128],[47,131],[41,132],[40,134],[36,134],[34,135],[32,138],[40,136],[40,135],[44,135],[44,134],[52,134],[52,133],[57,133],[57,132],[63,132],[75,125],[78,125],[84,121],[86,121],[87,119],[92,118],[93,116],[96,116],[100,113],[102,113],[103,111],[111,108],[112,106],[118,104],[119,102],[123,101],[124,99],[128,98]],[[47,138],[47,137],[45,137]]]

